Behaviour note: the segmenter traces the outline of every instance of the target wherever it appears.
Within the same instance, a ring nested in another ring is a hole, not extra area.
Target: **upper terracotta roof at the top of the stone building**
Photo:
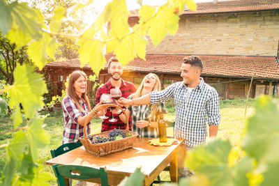
[[[204,13],[234,13],[259,10],[278,10],[278,0],[234,0],[234,1],[217,1],[217,3],[206,2],[197,3],[197,11],[186,10],[183,15],[204,14]],[[130,11],[130,17],[137,17],[138,10]]]

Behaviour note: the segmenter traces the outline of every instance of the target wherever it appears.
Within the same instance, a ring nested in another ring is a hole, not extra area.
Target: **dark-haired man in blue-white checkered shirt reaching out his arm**
[[[176,82],[163,91],[154,91],[141,98],[126,100],[119,104],[148,104],[164,102],[174,98],[175,125],[174,137],[184,139],[186,146],[192,148],[204,144],[207,137],[206,122],[209,125],[209,137],[216,137],[220,123],[220,100],[217,91],[200,77],[202,61],[198,56],[188,56],[181,65],[183,82]]]

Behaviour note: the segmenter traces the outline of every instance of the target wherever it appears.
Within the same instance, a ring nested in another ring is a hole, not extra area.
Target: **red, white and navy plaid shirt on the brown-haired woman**
[[[63,144],[77,142],[78,138],[84,135],[83,126],[77,123],[77,118],[88,114],[89,107],[83,99],[80,99],[80,105],[82,105],[85,113],[81,112],[74,100],[68,95],[66,95],[61,104],[64,124]],[[90,125],[86,125],[86,134],[90,134]]]

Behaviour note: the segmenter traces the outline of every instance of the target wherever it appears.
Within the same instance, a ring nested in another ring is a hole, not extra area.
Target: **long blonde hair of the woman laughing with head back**
[[[160,83],[159,77],[153,73],[149,73],[148,75],[153,75],[156,79],[156,83],[155,83],[152,91],[160,91],[161,83]],[[142,83],[140,84],[139,88],[137,88],[137,91],[131,95],[132,98],[140,98],[142,96],[142,90],[144,89],[144,80],[146,79],[146,77],[148,75],[144,76],[144,79],[142,79]],[[151,121],[152,118],[156,118],[157,107],[158,107],[157,104],[151,104],[151,112],[148,116],[149,121]]]

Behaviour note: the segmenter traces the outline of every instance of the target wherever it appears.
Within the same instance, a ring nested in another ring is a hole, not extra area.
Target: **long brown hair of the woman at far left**
[[[74,87],[75,82],[81,76],[83,76],[85,79],[87,79],[86,74],[80,70],[76,70],[70,74],[68,88],[67,88],[67,95],[70,96],[70,98],[72,98],[74,100],[75,104],[77,104],[77,108],[80,111],[85,112],[84,109],[82,108],[82,105],[80,105],[80,101],[79,101],[80,99],[79,99],[79,96],[77,95],[77,93],[75,93],[75,87]],[[87,107],[89,107],[89,110],[91,110],[89,98],[87,97],[86,93],[87,93],[87,84],[86,84],[85,93],[82,93],[82,98],[85,100],[85,103],[87,104]]]

